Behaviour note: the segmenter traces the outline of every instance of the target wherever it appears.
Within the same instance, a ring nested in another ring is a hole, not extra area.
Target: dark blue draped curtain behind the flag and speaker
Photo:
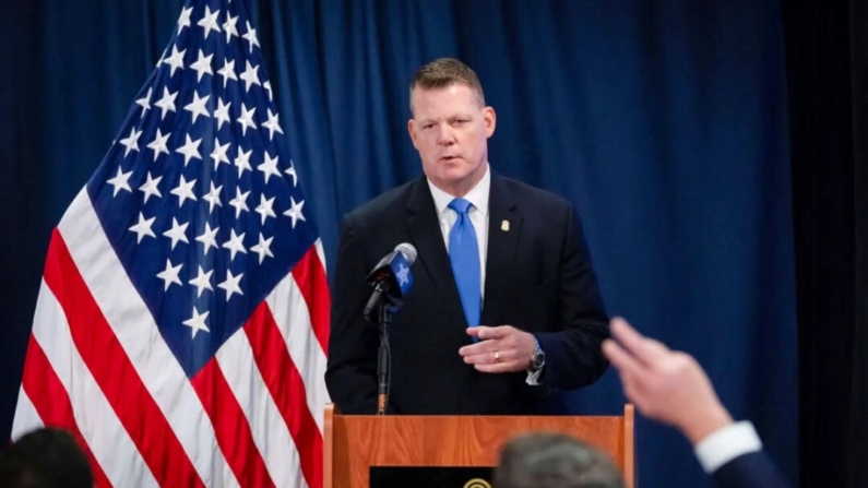
[[[343,213],[420,172],[407,85],[437,57],[479,74],[495,170],[581,212],[606,305],[693,354],[795,481],[794,243],[776,1],[251,0],[266,71],[334,264]],[[50,229],[169,39],[180,0],[12,2],[0,25],[0,437]],[[611,371],[576,414],[616,414]],[[710,486],[640,419],[643,487]]]

